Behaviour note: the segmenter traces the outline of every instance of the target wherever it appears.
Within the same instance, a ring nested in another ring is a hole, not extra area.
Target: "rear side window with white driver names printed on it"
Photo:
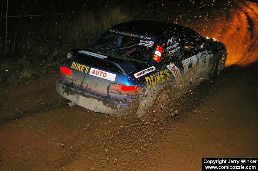
[[[180,45],[177,36],[168,36],[165,39],[165,49],[164,49],[164,63],[175,61],[175,59],[181,58],[182,54],[180,52]]]

